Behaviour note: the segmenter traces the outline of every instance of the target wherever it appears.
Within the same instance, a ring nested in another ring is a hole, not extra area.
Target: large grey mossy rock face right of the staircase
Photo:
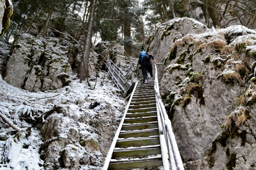
[[[163,23],[145,43],[187,170],[252,170],[256,163],[256,31]]]

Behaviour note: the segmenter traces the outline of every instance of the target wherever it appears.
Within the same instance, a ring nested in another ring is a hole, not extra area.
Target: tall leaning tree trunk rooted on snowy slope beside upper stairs
[[[95,10],[96,10],[96,2],[97,0],[93,0],[93,4],[90,8],[88,33],[87,33],[87,37],[84,44],[84,52],[83,52],[84,55],[82,56],[81,63],[79,66],[79,79],[81,81],[89,77],[89,74],[88,74],[89,55],[90,55],[90,48],[91,48],[92,37],[93,37],[93,22],[94,22]]]

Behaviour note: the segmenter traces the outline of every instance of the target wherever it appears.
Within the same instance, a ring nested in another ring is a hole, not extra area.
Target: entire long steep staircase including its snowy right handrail
[[[155,71],[154,81],[135,83],[102,170],[184,170]]]

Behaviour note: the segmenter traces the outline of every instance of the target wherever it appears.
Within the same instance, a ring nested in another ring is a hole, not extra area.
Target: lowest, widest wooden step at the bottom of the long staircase
[[[161,157],[157,158],[148,158],[140,160],[120,160],[120,161],[111,161],[108,170],[124,170],[124,169],[138,169],[146,167],[160,167],[163,166],[163,161]]]

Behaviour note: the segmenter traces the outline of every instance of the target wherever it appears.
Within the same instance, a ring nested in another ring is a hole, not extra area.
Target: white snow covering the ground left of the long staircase
[[[119,89],[113,87],[113,82],[107,76],[104,79],[104,73],[99,73],[93,89],[95,80],[95,77],[90,78],[92,87],[89,87],[86,81],[80,83],[76,77],[73,77],[73,82],[60,90],[32,93],[9,85],[0,77],[0,112],[22,129],[20,133],[15,133],[11,131],[12,128],[1,122],[0,169],[41,170],[43,165],[50,164],[40,159],[39,150],[47,137],[44,139],[41,134],[43,124],[39,125],[35,122],[40,120],[42,114],[56,106],[63,108],[65,112],[64,114],[54,112],[51,115],[61,117],[61,126],[57,130],[59,139],[67,140],[71,128],[79,132],[85,141],[99,143],[98,129],[95,127],[96,122],[99,121],[98,114],[111,112],[114,116],[104,118],[108,121],[108,125],[111,121],[118,122],[126,103]],[[44,120],[44,116],[42,117],[41,120],[47,122],[48,119]],[[50,139],[54,138],[56,137]],[[76,144],[70,142],[60,149],[73,148],[76,150],[73,157],[78,156],[80,159],[84,157],[84,153],[87,153],[90,159],[94,159],[93,165],[81,164],[81,169],[99,169],[103,165],[101,151],[87,150],[86,147],[82,147],[78,142]],[[69,156],[72,157],[72,154]],[[60,155],[57,155],[56,159],[59,158]]]

